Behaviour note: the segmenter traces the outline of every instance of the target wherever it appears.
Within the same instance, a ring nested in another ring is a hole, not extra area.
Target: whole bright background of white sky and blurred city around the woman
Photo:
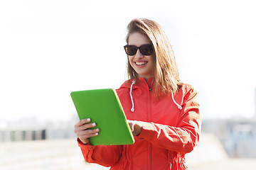
[[[70,92],[122,84],[133,18],[160,23],[198,91],[189,168],[253,169],[255,16],[253,0],[0,1],[0,169],[107,169],[82,158]]]

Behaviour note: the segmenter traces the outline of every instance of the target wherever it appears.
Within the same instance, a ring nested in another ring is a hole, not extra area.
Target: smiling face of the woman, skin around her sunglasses
[[[151,44],[151,41],[142,33],[132,33],[129,35],[128,44],[140,47],[141,45]],[[129,64],[131,64],[139,77],[143,77],[144,79],[154,77],[153,55],[142,55],[139,49],[135,55],[129,55]]]

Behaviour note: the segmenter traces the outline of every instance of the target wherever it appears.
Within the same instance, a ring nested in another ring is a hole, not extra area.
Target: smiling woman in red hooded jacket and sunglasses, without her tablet
[[[92,146],[99,129],[90,118],[75,125],[85,160],[110,169],[187,169],[184,155],[197,145],[201,116],[196,91],[178,78],[171,44],[161,26],[134,19],[127,26],[129,80],[117,89],[134,145]]]

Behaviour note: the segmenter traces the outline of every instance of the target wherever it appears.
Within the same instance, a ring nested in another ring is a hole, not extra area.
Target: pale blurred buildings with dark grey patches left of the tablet
[[[77,118],[62,122],[38,122],[33,119],[0,123],[0,142],[56,140],[75,137]]]

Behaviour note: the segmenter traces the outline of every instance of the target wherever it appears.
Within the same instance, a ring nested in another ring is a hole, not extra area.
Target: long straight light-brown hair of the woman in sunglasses
[[[156,83],[156,86],[154,86],[156,98],[176,93],[182,83],[178,78],[178,67],[171,43],[159,23],[144,18],[134,19],[128,24],[127,30],[127,44],[129,43],[129,35],[142,33],[151,40],[154,46],[155,67],[153,72]],[[129,64],[129,60],[127,60],[127,74],[129,79],[139,78],[137,72]]]

